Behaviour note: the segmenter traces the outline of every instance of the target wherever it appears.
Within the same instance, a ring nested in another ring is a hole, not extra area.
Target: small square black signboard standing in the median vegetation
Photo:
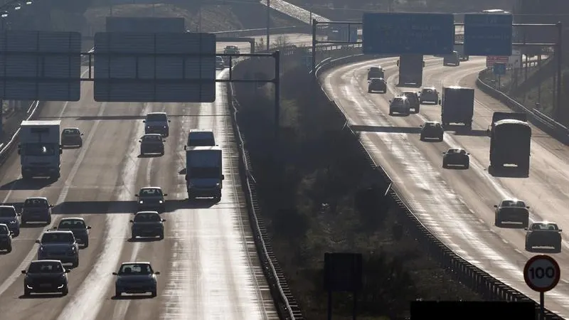
[[[324,254],[324,290],[328,292],[356,292],[363,284],[360,253]]]

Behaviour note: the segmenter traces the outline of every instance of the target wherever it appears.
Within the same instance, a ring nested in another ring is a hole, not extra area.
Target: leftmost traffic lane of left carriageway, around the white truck
[[[86,89],[82,87],[82,93]],[[60,102],[47,102],[40,110],[38,110],[38,118],[46,117],[46,119],[53,119],[59,117],[62,112],[76,112],[76,110],[83,110],[84,114],[96,114],[96,107],[92,105],[83,105],[75,102],[60,103]],[[72,119],[63,119],[62,127],[69,126],[75,127],[76,123]],[[91,124],[79,126],[84,132],[89,132]],[[85,137],[85,136],[84,136]],[[21,178],[21,165],[20,157],[16,151],[12,152],[9,159],[1,166],[1,190],[0,199],[3,203],[21,203],[29,196],[45,196],[48,200],[55,204],[58,200],[63,186],[67,183],[70,177],[70,171],[75,164],[75,160],[82,149],[65,149],[62,154],[61,162],[61,177],[58,181],[50,182],[45,179],[38,179],[33,183],[23,182]],[[55,212],[54,212],[55,213]],[[53,215],[53,223],[57,222],[57,215]],[[46,225],[29,225],[21,228],[21,233],[17,238],[14,238],[14,250],[7,255],[0,256],[0,263],[4,266],[0,270],[0,295],[8,289],[11,284],[19,277],[19,270],[26,269],[27,263],[32,258],[36,257],[35,240],[38,239],[46,229]]]

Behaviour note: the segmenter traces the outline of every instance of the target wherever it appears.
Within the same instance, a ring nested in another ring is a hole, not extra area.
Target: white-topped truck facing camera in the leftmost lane
[[[60,177],[61,154],[60,120],[23,121],[20,129],[21,174],[23,179],[43,176]]]

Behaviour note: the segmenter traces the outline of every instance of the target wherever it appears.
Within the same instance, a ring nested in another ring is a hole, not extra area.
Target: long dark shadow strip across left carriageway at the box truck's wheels
[[[169,200],[166,201],[164,213],[174,210],[210,208],[214,204],[214,201]],[[65,201],[55,205],[52,209],[52,213],[55,215],[133,214],[137,211],[139,210],[136,201]]]

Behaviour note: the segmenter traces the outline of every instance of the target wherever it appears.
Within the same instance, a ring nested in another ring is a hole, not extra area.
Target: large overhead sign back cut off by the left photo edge
[[[79,101],[81,34],[5,31],[0,36],[0,99]]]

